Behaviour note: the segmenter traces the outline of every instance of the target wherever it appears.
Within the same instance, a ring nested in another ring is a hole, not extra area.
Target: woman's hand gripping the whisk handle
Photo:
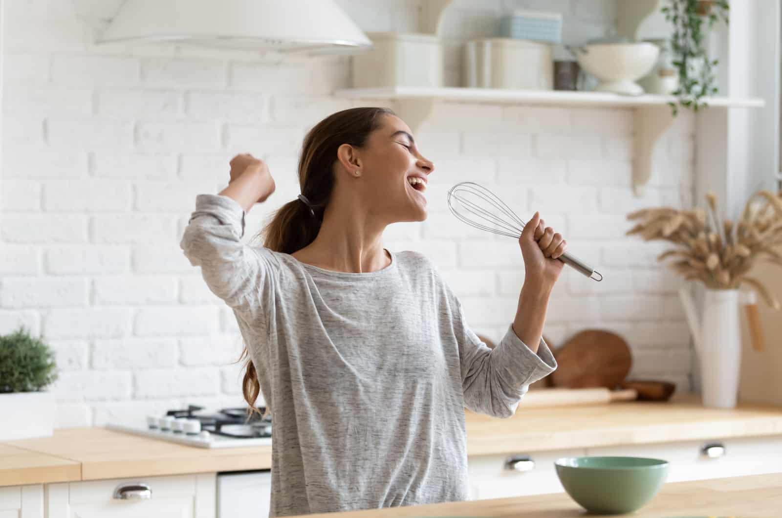
[[[524,257],[525,284],[532,282],[538,290],[551,290],[565,267],[556,259],[565,253],[568,243],[554,228],[547,227],[536,212],[522,230],[518,245]]]

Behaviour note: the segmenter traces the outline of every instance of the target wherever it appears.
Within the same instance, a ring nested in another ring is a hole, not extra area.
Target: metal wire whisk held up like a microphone
[[[451,187],[448,191],[448,208],[458,219],[475,228],[515,239],[522,236],[524,221],[497,195],[475,182],[460,182]],[[597,282],[603,280],[600,272],[568,252],[558,259],[590,279]]]

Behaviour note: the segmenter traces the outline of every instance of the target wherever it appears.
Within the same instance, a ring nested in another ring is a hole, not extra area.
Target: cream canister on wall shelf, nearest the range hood
[[[443,45],[432,34],[368,32],[374,49],[353,56],[353,87],[443,86]]]

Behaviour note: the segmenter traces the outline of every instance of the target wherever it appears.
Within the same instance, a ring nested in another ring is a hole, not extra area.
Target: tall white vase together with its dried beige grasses
[[[680,290],[684,314],[700,358],[705,406],[732,408],[738,394],[741,363],[739,287],[757,290],[766,303],[780,308],[779,300],[748,274],[757,261],[782,266],[782,191],[756,192],[741,218],[720,221],[716,196],[706,195],[708,210],[648,208],[628,214],[640,220],[627,235],[644,240],[662,239],[676,245],[658,257],[673,259],[671,266],[685,280],[702,282],[705,300],[699,318],[688,290]]]

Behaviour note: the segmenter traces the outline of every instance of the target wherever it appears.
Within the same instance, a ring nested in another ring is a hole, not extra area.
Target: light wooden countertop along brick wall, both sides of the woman
[[[524,408],[510,419],[467,412],[468,455],[782,434],[782,408],[703,408],[698,396],[669,403]],[[269,469],[271,446],[194,448],[101,427],[0,442],[0,486]]]

